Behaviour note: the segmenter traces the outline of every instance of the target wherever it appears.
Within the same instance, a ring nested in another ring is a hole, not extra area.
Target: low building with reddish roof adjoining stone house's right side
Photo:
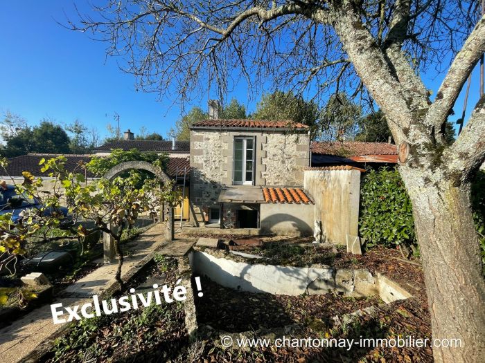
[[[312,167],[382,167],[398,162],[396,145],[387,142],[312,142]]]

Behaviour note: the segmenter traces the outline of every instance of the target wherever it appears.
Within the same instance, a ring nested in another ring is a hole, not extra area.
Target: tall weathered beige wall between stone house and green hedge
[[[304,187],[315,201],[324,242],[345,245],[358,235],[360,171],[306,170]]]

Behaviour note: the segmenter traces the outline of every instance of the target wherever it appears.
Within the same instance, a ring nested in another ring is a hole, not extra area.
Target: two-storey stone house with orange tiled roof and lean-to
[[[310,234],[308,127],[288,120],[206,120],[191,127],[190,201],[201,226]]]

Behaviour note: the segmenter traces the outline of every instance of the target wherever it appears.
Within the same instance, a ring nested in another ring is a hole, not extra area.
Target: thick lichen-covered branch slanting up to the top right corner
[[[448,74],[436,93],[434,104],[426,115],[427,124],[434,124],[436,129],[439,129],[446,121],[468,75],[483,53],[485,53],[485,15],[478,21],[450,66]]]

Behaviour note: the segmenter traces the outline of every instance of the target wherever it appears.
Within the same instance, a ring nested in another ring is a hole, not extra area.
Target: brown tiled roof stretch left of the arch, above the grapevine
[[[6,167],[9,176],[22,176],[22,171],[30,171],[34,176],[48,176],[51,171],[40,171],[41,166],[39,162],[42,158],[51,159],[61,154],[56,153],[28,153],[27,155],[17,156],[15,158],[8,159],[8,166]],[[87,163],[91,160],[92,155],[64,155],[66,158],[66,169],[68,171],[76,170],[80,174],[85,174],[87,178],[93,178],[94,174],[90,171],[85,171],[80,164]],[[0,174],[5,174],[5,171],[1,170]]]

